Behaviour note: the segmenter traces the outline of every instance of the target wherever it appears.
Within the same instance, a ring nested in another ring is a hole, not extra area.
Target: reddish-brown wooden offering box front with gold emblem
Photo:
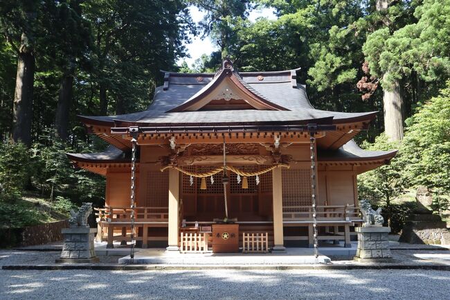
[[[239,252],[238,224],[213,224],[213,252]]]

